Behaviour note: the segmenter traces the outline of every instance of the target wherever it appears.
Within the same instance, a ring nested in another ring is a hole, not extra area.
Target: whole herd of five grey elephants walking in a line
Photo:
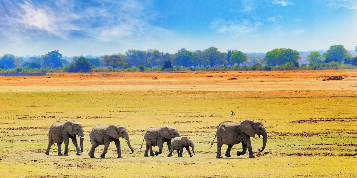
[[[216,158],[222,158],[221,147],[223,144],[228,145],[225,156],[231,157],[231,149],[233,145],[242,143],[242,151],[237,151],[237,156],[244,155],[248,148],[249,158],[254,158],[250,137],[255,137],[255,135],[258,135],[259,138],[260,135],[263,136],[262,149],[258,149],[258,151],[262,152],[265,149],[267,143],[267,132],[262,122],[248,119],[239,122],[223,121],[217,127],[216,135],[215,138],[213,138],[211,147],[213,146],[213,142],[217,138]],[[81,138],[80,147],[77,144],[76,136]],[[82,124],[77,121],[54,122],[50,127],[48,138],[49,140],[46,155],[49,155],[51,146],[57,143],[58,155],[67,156],[69,138],[71,138],[73,145],[76,147],[76,155],[79,156],[83,152],[83,141],[85,136]],[[94,151],[95,148],[97,148],[99,145],[104,145],[104,151],[102,152],[100,157],[105,158],[109,144],[113,141],[115,143],[118,154],[117,158],[122,158],[119,141],[120,138],[125,139],[125,141],[127,142],[127,145],[131,150],[130,154],[134,152],[134,149],[131,147],[130,144],[128,130],[126,129],[126,127],[121,125],[105,126],[98,124],[92,128],[89,134],[89,138],[92,144],[92,147],[88,153],[90,158],[95,158]],[[171,139],[173,139],[172,142]],[[187,137],[181,137],[180,132],[174,127],[150,127],[144,133],[144,139],[141,143],[140,149],[142,148],[142,144],[144,143],[144,141],[146,142],[144,157],[149,156],[149,150],[150,156],[160,155],[162,153],[162,147],[164,146],[165,142],[169,149],[169,153],[167,154],[168,157],[171,157],[172,153],[175,150],[177,151],[177,157],[182,157],[183,148],[186,148],[190,157],[195,155],[195,146],[192,139]],[[61,152],[62,142],[65,143],[64,154],[62,154]],[[159,146],[159,151],[155,151],[155,154],[152,151],[153,146]],[[193,155],[191,154],[189,147],[192,148]]]

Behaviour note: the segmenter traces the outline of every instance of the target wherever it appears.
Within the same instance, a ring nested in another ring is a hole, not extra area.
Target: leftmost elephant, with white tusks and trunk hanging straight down
[[[79,150],[76,135],[81,137],[81,150]],[[82,124],[77,121],[54,122],[50,127],[50,131],[48,132],[48,146],[45,154],[50,155],[51,146],[57,143],[58,155],[68,156],[69,138],[71,138],[73,145],[76,147],[76,155],[80,156],[83,152],[83,140],[85,138]],[[65,142],[64,154],[61,152],[62,142]]]

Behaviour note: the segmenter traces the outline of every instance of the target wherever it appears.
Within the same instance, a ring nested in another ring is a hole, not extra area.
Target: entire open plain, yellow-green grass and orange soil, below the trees
[[[322,81],[332,75],[345,79]],[[1,177],[355,177],[357,172],[355,70],[0,77],[0,106]],[[231,158],[215,158],[216,144],[208,148],[216,126],[243,119],[263,121],[265,151],[257,153],[262,138],[252,138],[257,158],[237,157],[241,145],[233,146]],[[96,124],[124,125],[134,154],[121,141],[124,158],[116,158],[112,143],[106,159],[89,159],[85,140],[81,156],[71,143],[69,156],[56,156],[57,146],[46,156],[48,129],[57,120],[79,121],[87,137]],[[196,156],[143,157],[145,130],[162,125],[192,138]]]

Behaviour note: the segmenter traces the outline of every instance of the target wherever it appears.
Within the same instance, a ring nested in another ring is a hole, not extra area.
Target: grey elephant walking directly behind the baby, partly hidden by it
[[[146,130],[144,133],[144,139],[142,140],[142,143],[144,143],[144,140],[146,141],[146,149],[144,153],[144,157],[148,156],[148,151],[150,148],[150,156],[157,156],[162,153],[162,146],[164,146],[164,142],[167,143],[167,147],[169,148],[169,151],[171,150],[171,138],[175,137],[181,137],[180,132],[170,126],[162,126],[162,127],[150,127],[149,129]],[[142,148],[142,143],[140,146],[140,149]],[[159,146],[159,151],[152,152],[152,147],[153,146]]]

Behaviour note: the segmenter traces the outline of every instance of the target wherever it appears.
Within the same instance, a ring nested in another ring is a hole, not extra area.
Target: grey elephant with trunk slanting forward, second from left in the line
[[[118,153],[117,158],[122,158],[121,157],[121,149],[120,149],[120,141],[119,139],[125,139],[127,142],[131,152],[130,154],[134,153],[134,149],[130,145],[130,139],[129,139],[129,134],[128,130],[126,127],[121,126],[121,125],[95,125],[92,129],[92,131],[89,133],[89,138],[90,142],[92,143],[92,148],[90,149],[88,155],[90,158],[95,158],[94,157],[94,150],[96,147],[99,145],[104,145],[104,151],[102,155],[100,155],[101,158],[105,158],[105,154],[108,151],[109,143],[114,141],[115,146],[116,146],[116,151]]]

